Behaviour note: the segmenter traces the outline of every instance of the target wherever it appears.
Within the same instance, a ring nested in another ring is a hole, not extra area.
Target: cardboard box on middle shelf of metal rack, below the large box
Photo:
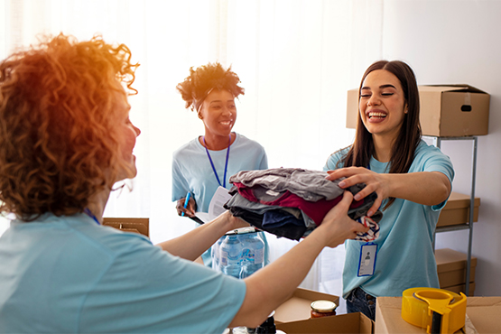
[[[473,221],[478,221],[478,207],[480,199],[476,197],[473,201]],[[441,215],[437,227],[447,227],[451,225],[461,225],[469,222],[469,195],[452,191],[447,204],[441,210]]]

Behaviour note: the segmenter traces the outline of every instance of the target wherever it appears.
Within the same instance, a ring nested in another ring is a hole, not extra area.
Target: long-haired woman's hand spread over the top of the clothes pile
[[[390,182],[387,177],[389,174],[378,174],[364,167],[346,167],[335,171],[328,171],[328,173],[327,180],[330,181],[342,177],[346,178],[339,182],[339,187],[342,189],[347,189],[357,183],[365,183],[366,188],[357,192],[354,197],[355,200],[364,199],[366,196],[376,191],[377,199],[374,201],[373,206],[368,209],[368,217],[374,215],[381,206],[383,199],[390,197]]]

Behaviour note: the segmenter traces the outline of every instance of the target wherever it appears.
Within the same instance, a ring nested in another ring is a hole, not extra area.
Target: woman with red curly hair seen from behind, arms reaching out
[[[256,327],[323,246],[364,229],[348,218],[347,193],[291,252],[237,280],[192,263],[248,226],[228,211],[158,246],[101,226],[113,184],[136,173],[130,59],[124,44],[60,34],[0,62],[0,209],[15,217],[0,237],[1,333]]]

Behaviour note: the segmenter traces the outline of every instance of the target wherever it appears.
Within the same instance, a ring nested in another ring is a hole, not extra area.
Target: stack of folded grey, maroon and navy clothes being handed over
[[[327,173],[299,168],[274,168],[262,171],[243,171],[230,177],[232,198],[225,208],[247,223],[278,237],[299,240],[321,224],[325,215],[342,199],[344,190],[339,181],[326,179]],[[356,194],[366,185],[349,187]],[[354,200],[348,216],[366,227],[367,233],[357,240],[372,241],[379,235],[379,210],[367,217],[367,210],[376,200],[376,192],[365,199]]]

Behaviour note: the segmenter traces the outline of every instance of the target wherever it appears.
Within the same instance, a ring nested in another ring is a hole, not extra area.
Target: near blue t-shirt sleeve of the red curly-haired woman
[[[135,236],[107,240],[115,258],[82,307],[83,332],[222,333],[246,283]]]

